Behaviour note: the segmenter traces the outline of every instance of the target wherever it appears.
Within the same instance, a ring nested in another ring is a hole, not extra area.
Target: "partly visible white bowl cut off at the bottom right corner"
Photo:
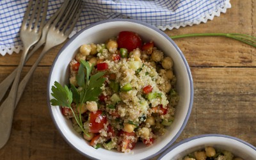
[[[223,134],[203,134],[180,141],[163,152],[157,160],[177,160],[206,146],[228,150],[244,160],[254,160],[256,157],[256,148],[246,141]]]

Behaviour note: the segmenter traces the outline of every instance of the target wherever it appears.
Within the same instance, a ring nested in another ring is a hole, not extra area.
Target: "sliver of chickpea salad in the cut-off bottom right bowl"
[[[202,150],[196,150],[182,159],[177,160],[244,160],[241,157],[234,156],[232,152],[220,150],[211,146],[207,146]]]

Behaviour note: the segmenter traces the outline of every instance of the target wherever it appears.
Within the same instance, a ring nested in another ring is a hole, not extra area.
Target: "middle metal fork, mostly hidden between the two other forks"
[[[26,57],[25,61],[28,61],[29,58],[34,54],[37,49],[39,49],[42,45],[45,44],[46,42],[46,36],[48,33],[49,28],[52,25],[53,20],[56,19],[56,17],[60,14],[62,10],[65,10],[67,8],[69,1],[64,1],[64,3],[61,5],[61,7],[58,9],[57,12],[52,15],[51,19],[48,20],[47,24],[45,24],[44,28],[42,29],[42,36],[40,40],[36,43],[35,47],[31,51],[29,51],[28,56]],[[17,73],[18,68],[15,68],[11,74],[9,74],[8,77],[6,77],[1,83],[0,83],[0,101],[3,99],[4,95],[6,94],[8,88],[11,86],[13,80],[15,79],[16,73]],[[17,105],[16,105],[17,106]],[[1,107],[1,106],[0,106]]]

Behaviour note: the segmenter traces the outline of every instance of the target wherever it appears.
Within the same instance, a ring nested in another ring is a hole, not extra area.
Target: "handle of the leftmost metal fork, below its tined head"
[[[1,104],[0,106],[0,148],[2,148],[10,138],[13,111],[15,109],[15,101],[17,97],[17,89],[19,86],[20,73],[24,65],[26,54],[28,53],[29,47],[24,47],[25,49],[24,52],[22,53],[19,67],[17,69],[17,74],[13,81],[10,93],[8,97],[4,100],[3,104]]]

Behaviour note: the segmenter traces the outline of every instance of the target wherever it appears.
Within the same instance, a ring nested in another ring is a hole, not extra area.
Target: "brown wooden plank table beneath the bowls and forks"
[[[227,13],[206,24],[165,33],[256,36],[256,1],[231,3]],[[223,37],[184,38],[175,42],[188,60],[195,88],[191,116],[177,142],[198,134],[218,133],[256,146],[256,49]],[[63,140],[47,107],[48,74],[60,48],[61,45],[49,51],[29,81],[15,110],[10,140],[0,150],[0,159],[84,159]],[[25,72],[38,53],[26,64]],[[19,60],[20,54],[15,53],[0,57],[0,81],[17,67]]]

